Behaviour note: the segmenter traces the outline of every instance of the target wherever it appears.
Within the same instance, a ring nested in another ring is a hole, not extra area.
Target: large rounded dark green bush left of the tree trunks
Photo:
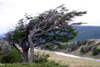
[[[5,45],[2,48],[1,53],[4,55],[0,56],[0,63],[17,63],[23,61],[22,55],[16,49],[12,49],[9,45]]]

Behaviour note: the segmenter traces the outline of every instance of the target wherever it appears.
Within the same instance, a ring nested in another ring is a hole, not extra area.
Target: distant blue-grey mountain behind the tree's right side
[[[100,39],[100,26],[74,26],[78,35],[72,41]]]

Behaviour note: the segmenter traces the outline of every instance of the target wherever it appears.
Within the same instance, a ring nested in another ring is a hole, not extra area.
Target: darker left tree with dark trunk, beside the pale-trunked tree
[[[30,46],[28,41],[28,34],[29,33],[26,29],[24,19],[19,20],[15,29],[9,31],[6,34],[6,40],[8,41],[9,45],[18,50],[18,52],[23,56],[25,63],[28,62],[28,50]],[[19,48],[22,48],[22,52]]]

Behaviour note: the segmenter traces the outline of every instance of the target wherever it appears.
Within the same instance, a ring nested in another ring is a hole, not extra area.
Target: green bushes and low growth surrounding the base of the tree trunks
[[[0,67],[68,67],[59,62],[48,60],[49,54],[35,52],[34,63],[23,63],[22,55],[9,45],[0,46]]]

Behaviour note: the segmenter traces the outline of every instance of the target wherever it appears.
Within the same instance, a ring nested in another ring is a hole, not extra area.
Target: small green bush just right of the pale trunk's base
[[[34,62],[35,63],[47,62],[48,57],[50,57],[49,54],[37,52],[37,53],[34,54]]]

